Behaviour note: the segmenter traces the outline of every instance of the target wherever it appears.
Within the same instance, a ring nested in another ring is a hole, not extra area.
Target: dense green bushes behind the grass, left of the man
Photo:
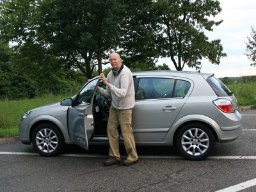
[[[34,76],[37,77],[29,77],[8,63],[0,62],[0,100],[31,99],[48,93],[71,95],[87,81],[81,72],[65,68],[42,70]]]

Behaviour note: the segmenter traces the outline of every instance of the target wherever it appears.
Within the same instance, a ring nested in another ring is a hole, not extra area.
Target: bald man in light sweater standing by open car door
[[[113,69],[109,72],[107,78],[103,73],[99,77],[107,86],[106,90],[99,88],[100,94],[112,99],[107,128],[110,158],[104,164],[111,166],[121,162],[117,130],[118,125],[120,125],[128,155],[123,164],[129,166],[138,163],[138,154],[131,126],[132,108],[135,102],[133,78],[131,70],[122,64],[122,59],[118,53],[111,53],[109,61]]]

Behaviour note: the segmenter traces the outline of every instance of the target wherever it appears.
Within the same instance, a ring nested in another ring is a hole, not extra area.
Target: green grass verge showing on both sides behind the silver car
[[[246,84],[228,84],[234,91],[238,106],[256,106],[256,82]],[[35,99],[0,100],[0,138],[18,136],[20,118],[29,109],[55,102],[73,95],[43,95]]]

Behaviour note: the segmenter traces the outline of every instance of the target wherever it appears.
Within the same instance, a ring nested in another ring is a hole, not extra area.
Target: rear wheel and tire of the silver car
[[[177,132],[177,150],[189,160],[202,160],[208,157],[215,147],[215,136],[209,127],[202,124],[184,125]]]

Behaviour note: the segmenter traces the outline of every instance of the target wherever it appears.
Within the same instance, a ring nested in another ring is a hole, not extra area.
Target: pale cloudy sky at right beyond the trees
[[[209,40],[220,39],[223,52],[227,57],[221,58],[220,65],[202,60],[201,72],[214,73],[216,77],[255,76],[256,67],[250,66],[246,53],[246,42],[251,38],[252,28],[256,29],[256,1],[255,0],[220,0],[222,12],[214,20],[223,22],[207,32]],[[175,67],[170,58],[159,58],[157,64],[166,63],[172,70]],[[184,67],[186,71],[196,71],[195,68]]]

